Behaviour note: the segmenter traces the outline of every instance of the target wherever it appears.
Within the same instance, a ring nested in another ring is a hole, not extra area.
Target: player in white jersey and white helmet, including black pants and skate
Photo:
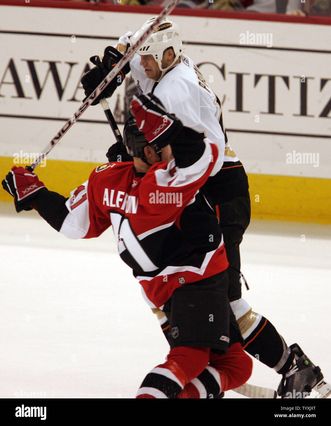
[[[126,50],[128,43],[139,38],[151,20],[153,18],[147,20],[136,33],[129,32],[120,37],[117,49],[122,52]],[[117,55],[111,48],[107,49],[108,54]],[[103,63],[106,62],[103,59]],[[241,297],[239,245],[250,221],[248,180],[243,164],[228,144],[222,105],[194,62],[183,54],[177,24],[163,20],[131,58],[130,70],[138,92],[156,95],[166,109],[180,118],[184,126],[203,132],[208,140],[217,144],[219,150],[224,150],[223,164],[220,161],[216,164],[203,190],[211,199],[223,231],[230,264],[228,297],[243,334],[244,348],[253,356],[260,354],[261,362],[282,374],[278,389],[280,396],[292,394],[294,383],[297,391],[313,388],[322,377],[318,367],[308,360],[298,345],[288,347],[271,322],[253,312]],[[104,72],[108,73],[108,69]],[[100,83],[99,74],[100,65],[83,77],[86,95]],[[103,76],[102,70],[100,75]],[[110,85],[106,95],[111,96],[115,88],[116,84]]]

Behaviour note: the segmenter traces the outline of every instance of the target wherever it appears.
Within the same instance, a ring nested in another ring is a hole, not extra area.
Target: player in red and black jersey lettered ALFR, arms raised
[[[132,112],[145,134],[140,151],[126,138],[134,162],[97,167],[68,199],[23,167],[3,187],[17,211],[33,206],[69,238],[97,237],[112,225],[121,258],[171,331],[167,361],[147,374],[137,398],[214,397],[245,383],[252,368],[229,321],[222,233],[199,191],[223,153],[153,96],[133,101]]]

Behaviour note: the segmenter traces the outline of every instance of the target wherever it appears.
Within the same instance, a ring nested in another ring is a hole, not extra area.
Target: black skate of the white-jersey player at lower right
[[[283,374],[278,395],[282,398],[326,398],[331,393],[331,386],[323,381],[320,367],[314,366],[297,343],[290,348],[294,352],[294,360],[288,372]]]

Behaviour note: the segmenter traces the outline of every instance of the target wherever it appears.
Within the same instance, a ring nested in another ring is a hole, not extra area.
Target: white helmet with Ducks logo
[[[145,23],[143,23],[140,29],[138,29],[134,35],[131,36],[131,45],[139,39],[141,33],[151,25],[155,18],[156,17],[148,19]],[[169,47],[174,49],[175,58],[171,65],[163,69],[161,65],[163,52]],[[180,28],[176,23],[167,19],[163,19],[159,23],[159,25],[154,29],[154,32],[148,37],[145,43],[140,46],[140,49],[137,50],[138,55],[153,55],[154,59],[159,65],[160,71],[163,72],[169,69],[173,63],[176,62],[182,52],[182,35]]]

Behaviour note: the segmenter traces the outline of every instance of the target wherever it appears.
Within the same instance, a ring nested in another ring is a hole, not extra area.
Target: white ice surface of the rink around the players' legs
[[[252,221],[243,297],[331,380],[331,227]],[[0,398],[133,398],[168,345],[112,230],[68,240],[36,212],[0,205]],[[258,361],[249,383],[277,389]],[[26,393],[27,392],[27,393]],[[33,394],[31,394],[33,395]],[[242,396],[228,391],[225,398]]]

